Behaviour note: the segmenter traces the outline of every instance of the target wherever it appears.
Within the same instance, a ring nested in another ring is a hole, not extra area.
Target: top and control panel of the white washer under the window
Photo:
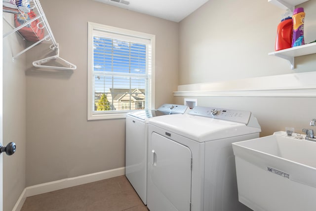
[[[185,105],[163,104],[157,110],[139,110],[127,113],[127,115],[141,120],[147,120],[149,118],[163,115],[184,114],[187,109],[188,106]]]

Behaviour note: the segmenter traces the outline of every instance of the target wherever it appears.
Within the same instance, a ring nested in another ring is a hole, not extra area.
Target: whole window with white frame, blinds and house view
[[[152,109],[155,36],[88,22],[88,120]]]

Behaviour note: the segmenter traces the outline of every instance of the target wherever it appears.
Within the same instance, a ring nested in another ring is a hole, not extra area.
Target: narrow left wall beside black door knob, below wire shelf
[[[11,28],[3,21],[3,32]],[[25,188],[26,79],[25,54],[12,62],[12,54],[25,42],[12,34],[3,39],[3,145],[16,143],[16,153],[3,156],[3,211],[11,211]]]

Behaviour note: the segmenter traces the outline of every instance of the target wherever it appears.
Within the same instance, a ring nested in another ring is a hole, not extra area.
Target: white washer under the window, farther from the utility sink
[[[163,104],[157,110],[140,110],[126,115],[125,175],[143,203],[147,204],[147,151],[149,119],[184,114],[184,105]]]

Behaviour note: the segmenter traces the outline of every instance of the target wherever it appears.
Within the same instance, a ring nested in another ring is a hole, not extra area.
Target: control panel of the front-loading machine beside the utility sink
[[[239,111],[222,108],[194,107],[189,114],[209,117],[218,120],[227,120],[247,125],[251,116],[250,111]]]

